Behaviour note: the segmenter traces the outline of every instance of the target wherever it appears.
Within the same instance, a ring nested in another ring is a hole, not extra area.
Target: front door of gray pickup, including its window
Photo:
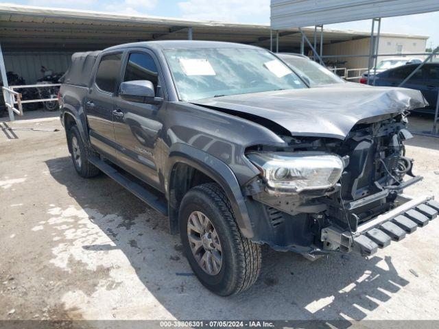
[[[128,51],[121,82],[149,80],[154,85],[156,96],[164,97],[157,63],[151,51]],[[122,167],[158,190],[161,190],[161,184],[156,164],[160,157],[158,132],[163,125],[159,114],[164,110],[163,104],[155,101],[128,101],[119,96],[115,99],[117,160]]]

